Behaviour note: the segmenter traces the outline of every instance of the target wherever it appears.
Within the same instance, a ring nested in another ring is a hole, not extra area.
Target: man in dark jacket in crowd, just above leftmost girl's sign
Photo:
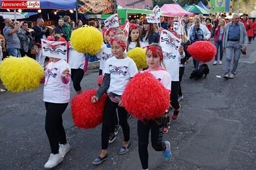
[[[42,18],[37,19],[37,25],[34,26],[35,43],[41,43],[41,38],[46,39],[49,36],[49,29],[44,26]],[[38,47],[40,45],[37,44]]]

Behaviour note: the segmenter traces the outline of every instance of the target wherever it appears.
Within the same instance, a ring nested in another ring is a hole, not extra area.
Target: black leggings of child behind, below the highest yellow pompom
[[[75,91],[80,91],[82,89],[80,82],[82,81],[84,74],[85,72],[83,69],[71,69],[71,79],[73,81]]]

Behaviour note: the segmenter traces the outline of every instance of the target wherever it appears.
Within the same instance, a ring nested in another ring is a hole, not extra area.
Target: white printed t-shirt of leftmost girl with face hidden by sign
[[[66,69],[70,70],[70,66],[65,60],[49,62],[46,65],[44,101],[49,103],[68,103],[70,100],[70,82],[64,84],[61,79],[61,74]]]

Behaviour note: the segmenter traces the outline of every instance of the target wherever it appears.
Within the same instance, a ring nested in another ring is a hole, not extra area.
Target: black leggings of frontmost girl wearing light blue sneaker
[[[149,145],[149,130],[151,129],[151,144],[156,151],[166,150],[166,144],[162,142],[162,131],[164,127],[157,125],[155,120],[149,120],[142,122],[138,120],[138,154],[140,156],[140,162],[142,168],[147,169],[149,167],[149,152],[147,146]]]

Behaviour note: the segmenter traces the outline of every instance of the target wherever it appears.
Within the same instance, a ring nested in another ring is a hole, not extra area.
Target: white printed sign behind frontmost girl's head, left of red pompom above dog
[[[162,30],[159,45],[162,47],[164,59],[175,59],[177,50],[180,47],[181,39],[177,38],[168,30]]]

